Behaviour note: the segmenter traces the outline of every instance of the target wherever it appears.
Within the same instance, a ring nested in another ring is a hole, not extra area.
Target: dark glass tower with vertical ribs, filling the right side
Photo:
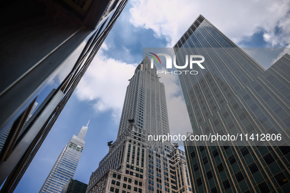
[[[201,15],[174,48],[179,65],[185,64],[182,54],[192,54],[186,50],[205,57],[198,74],[179,75],[192,135],[243,136],[213,144],[185,141],[192,188],[289,192],[290,55],[265,71]],[[246,141],[252,134],[255,139]],[[283,140],[261,140],[256,134],[281,134]]]

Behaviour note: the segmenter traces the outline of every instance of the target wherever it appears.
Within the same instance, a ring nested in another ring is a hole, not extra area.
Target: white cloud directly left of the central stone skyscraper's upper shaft
[[[106,49],[107,45],[103,44],[80,80],[76,95],[80,100],[92,101],[97,112],[112,110],[112,118],[119,121],[128,79],[134,74],[136,64],[108,58],[103,54]]]

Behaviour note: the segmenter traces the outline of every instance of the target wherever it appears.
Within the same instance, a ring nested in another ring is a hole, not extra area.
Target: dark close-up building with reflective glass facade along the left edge
[[[127,1],[2,3],[0,192],[17,186]]]

